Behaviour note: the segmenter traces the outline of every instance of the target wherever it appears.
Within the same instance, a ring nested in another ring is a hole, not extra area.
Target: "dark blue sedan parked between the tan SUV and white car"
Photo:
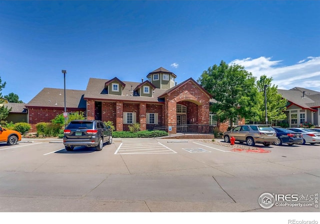
[[[276,128],[273,127],[276,132],[277,140],[274,142],[274,145],[280,146],[283,143],[288,145],[293,144],[302,144],[303,137],[300,133],[285,129],[285,128]]]

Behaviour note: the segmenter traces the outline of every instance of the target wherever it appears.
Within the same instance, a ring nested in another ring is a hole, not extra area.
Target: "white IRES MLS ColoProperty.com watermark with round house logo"
[[[318,208],[318,193],[312,195],[298,194],[270,194],[263,193],[258,200],[259,205],[263,209],[276,207],[314,207]]]

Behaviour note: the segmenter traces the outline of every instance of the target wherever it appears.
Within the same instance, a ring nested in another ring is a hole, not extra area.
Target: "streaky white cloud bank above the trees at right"
[[[270,57],[235,59],[229,64],[240,64],[257,77],[272,77],[272,84],[279,89],[302,87],[320,92],[320,57],[307,57],[293,65],[281,66],[283,60]]]

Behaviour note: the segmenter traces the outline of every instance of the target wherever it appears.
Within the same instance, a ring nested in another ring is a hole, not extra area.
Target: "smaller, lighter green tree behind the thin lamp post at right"
[[[281,121],[286,118],[284,111],[286,110],[286,100],[282,98],[277,92],[277,86],[272,85],[272,77],[267,78],[266,75],[261,75],[260,79],[256,81],[256,87],[258,89],[260,99],[263,99],[263,103],[260,103],[260,121],[265,121],[265,105],[264,105],[264,86],[266,93],[266,112],[268,122]]]

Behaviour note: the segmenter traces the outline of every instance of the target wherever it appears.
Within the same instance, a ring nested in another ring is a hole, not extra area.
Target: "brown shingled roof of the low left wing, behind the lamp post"
[[[67,108],[86,108],[83,99],[84,90],[65,90],[65,105]],[[64,108],[64,89],[43,88],[25,107],[56,107]]]

